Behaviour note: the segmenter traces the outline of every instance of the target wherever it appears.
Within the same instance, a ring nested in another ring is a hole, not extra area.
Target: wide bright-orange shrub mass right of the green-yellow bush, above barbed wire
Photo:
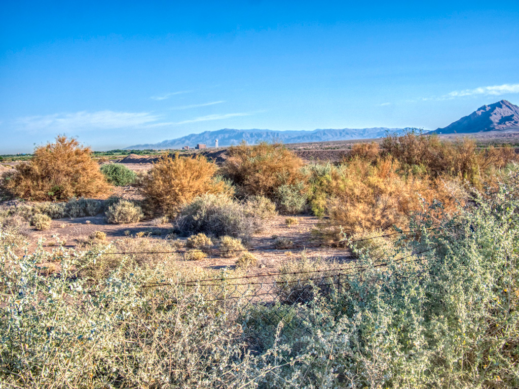
[[[465,200],[459,185],[404,173],[391,157],[378,159],[376,165],[354,159],[340,171],[340,179],[330,186],[328,208],[336,233],[339,226],[348,234],[388,230],[393,225],[405,228],[409,217],[422,209],[420,196],[429,204],[439,200],[447,211],[456,208],[456,199]]]

